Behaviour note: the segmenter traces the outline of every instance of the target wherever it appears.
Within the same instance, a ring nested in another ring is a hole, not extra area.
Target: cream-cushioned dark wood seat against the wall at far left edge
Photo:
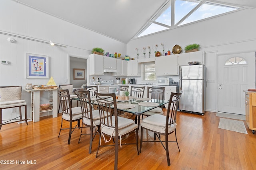
[[[27,103],[21,99],[22,86],[0,86],[0,130],[2,125],[14,123],[17,121],[25,121],[28,125],[27,119]],[[21,107],[24,106],[25,118],[22,118]],[[20,115],[13,119],[2,120],[2,110],[19,107]],[[18,118],[18,119],[17,119]],[[14,120],[14,121],[13,121]],[[3,121],[5,121],[3,123]]]

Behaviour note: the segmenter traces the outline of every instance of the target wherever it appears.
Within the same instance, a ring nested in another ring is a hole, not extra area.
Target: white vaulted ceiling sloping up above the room
[[[14,0],[128,43],[168,0]],[[255,0],[210,0],[256,8]]]

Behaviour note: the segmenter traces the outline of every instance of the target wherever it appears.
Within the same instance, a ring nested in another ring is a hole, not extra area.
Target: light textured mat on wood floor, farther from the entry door
[[[219,128],[247,134],[243,121],[220,118]]]

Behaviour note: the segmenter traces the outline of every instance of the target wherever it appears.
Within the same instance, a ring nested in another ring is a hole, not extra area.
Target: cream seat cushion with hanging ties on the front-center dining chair
[[[112,116],[112,120],[114,120],[114,119],[115,119],[115,117]],[[115,125],[113,125],[113,126],[115,126]],[[127,119],[127,118],[118,116],[118,133],[121,136],[126,133],[129,133],[131,131],[134,131],[134,129],[136,129],[137,127],[138,127],[138,125],[136,125],[132,119]],[[112,128],[112,127],[103,126],[102,132],[109,136],[113,136],[113,137],[116,136],[116,130],[115,130],[115,128]]]

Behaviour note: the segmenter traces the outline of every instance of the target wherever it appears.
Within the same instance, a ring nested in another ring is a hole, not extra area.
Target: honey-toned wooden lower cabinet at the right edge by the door
[[[245,119],[249,129],[256,130],[256,92],[245,92]]]

